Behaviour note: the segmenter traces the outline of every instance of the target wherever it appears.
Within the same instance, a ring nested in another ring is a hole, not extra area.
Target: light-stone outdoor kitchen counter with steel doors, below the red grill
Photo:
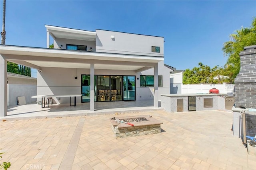
[[[168,112],[178,111],[191,111],[191,107],[194,107],[193,111],[200,110],[226,110],[225,109],[225,95],[226,94],[161,94],[161,107]],[[224,97],[223,97],[224,96]],[[194,105],[191,106],[188,98],[194,97]],[[177,102],[179,101],[179,102]],[[181,102],[180,102],[181,101]]]

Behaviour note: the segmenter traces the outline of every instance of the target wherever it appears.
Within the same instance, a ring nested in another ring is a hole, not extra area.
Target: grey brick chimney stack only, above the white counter
[[[236,108],[256,108],[256,45],[240,52],[240,72],[236,76]]]

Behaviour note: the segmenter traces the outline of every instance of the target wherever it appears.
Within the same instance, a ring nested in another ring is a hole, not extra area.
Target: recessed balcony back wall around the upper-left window
[[[87,50],[92,47],[92,51],[95,51],[96,47],[96,42],[95,41],[83,41],[83,40],[78,40],[78,39],[64,39],[64,38],[56,38],[54,39],[54,48],[58,49],[67,49],[67,44],[72,44],[72,45],[86,45]],[[62,45],[62,47],[61,47]]]

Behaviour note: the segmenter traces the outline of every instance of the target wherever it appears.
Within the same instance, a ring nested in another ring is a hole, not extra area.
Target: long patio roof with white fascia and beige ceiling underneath
[[[9,45],[1,45],[0,49],[0,54],[6,60],[38,70],[41,67],[90,68],[90,63],[94,63],[95,69],[139,71],[164,60],[163,57]]]

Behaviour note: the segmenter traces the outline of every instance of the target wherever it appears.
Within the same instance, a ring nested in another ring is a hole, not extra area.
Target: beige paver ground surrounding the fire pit
[[[116,139],[115,114],[1,121],[0,162],[11,162],[10,170],[255,170],[256,156],[232,135],[232,113],[146,114],[163,122],[162,133]]]

